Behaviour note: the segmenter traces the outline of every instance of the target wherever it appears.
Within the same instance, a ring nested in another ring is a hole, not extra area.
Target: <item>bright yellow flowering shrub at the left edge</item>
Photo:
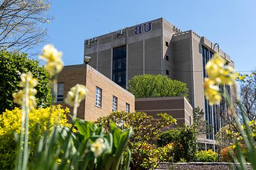
[[[70,126],[67,122],[66,113],[69,110],[60,108],[60,105],[52,108],[38,108],[30,112],[30,145],[31,156],[35,154],[38,142],[43,136],[47,126],[52,129],[54,124]],[[0,115],[0,169],[13,169],[16,155],[16,143],[14,133],[20,133],[22,110],[15,108]]]

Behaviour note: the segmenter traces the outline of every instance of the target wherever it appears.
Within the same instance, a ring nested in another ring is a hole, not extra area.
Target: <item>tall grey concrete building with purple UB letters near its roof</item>
[[[135,75],[161,74],[187,83],[189,103],[205,111],[205,120],[216,132],[221,127],[216,106],[204,98],[205,63],[218,53],[230,66],[234,62],[219,46],[192,30],[181,31],[159,18],[85,40],[84,56],[90,65],[123,88]],[[214,143],[207,135],[206,143]]]

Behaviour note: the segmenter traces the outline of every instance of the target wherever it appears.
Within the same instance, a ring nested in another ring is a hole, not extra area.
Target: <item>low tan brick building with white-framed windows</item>
[[[69,107],[63,99],[76,84],[84,84],[89,91],[77,110],[78,118],[95,121],[99,117],[108,116],[113,111],[134,112],[133,94],[85,64],[64,66],[58,76],[56,104]]]

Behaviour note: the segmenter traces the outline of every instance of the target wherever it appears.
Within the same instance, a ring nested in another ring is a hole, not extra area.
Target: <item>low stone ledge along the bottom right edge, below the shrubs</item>
[[[250,168],[250,164],[247,163],[246,164],[247,169],[251,169]],[[160,163],[159,164],[159,168],[158,169],[236,169],[236,164],[234,163],[216,163],[216,162],[212,162],[212,163],[204,163],[204,162],[189,162],[189,163]]]

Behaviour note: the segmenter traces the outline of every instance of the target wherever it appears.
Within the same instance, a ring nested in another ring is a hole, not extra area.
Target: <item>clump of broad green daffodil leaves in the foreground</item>
[[[36,156],[31,160],[30,169],[128,169],[130,151],[123,151],[133,130],[121,130],[110,124],[110,131],[104,133],[103,125],[95,125],[77,119],[74,124],[78,132],[71,128],[55,126],[49,137],[44,136],[39,143]],[[103,151],[96,156],[92,144],[103,139]],[[123,156],[126,156],[125,159]],[[125,160],[125,162],[123,161]]]

